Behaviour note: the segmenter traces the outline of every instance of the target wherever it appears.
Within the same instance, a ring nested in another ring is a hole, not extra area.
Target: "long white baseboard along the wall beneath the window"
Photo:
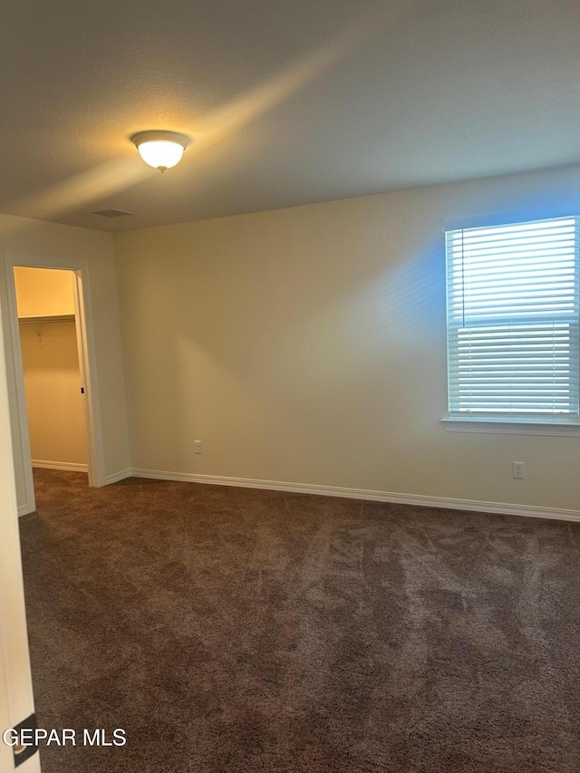
[[[478,513],[498,513],[499,515],[507,516],[580,521],[580,510],[565,510],[556,507],[483,502],[477,499],[425,497],[421,494],[397,494],[390,491],[373,491],[368,488],[316,486],[312,483],[285,483],[278,480],[224,478],[218,475],[196,475],[189,472],[167,472],[159,469],[131,469],[131,475],[135,478],[183,480],[191,483],[208,483],[216,486],[237,486],[240,488],[267,488],[271,491],[293,491],[297,494],[318,494],[324,497],[367,499],[373,502],[392,502],[401,505],[417,505],[419,507],[445,507],[451,510],[472,510]]]

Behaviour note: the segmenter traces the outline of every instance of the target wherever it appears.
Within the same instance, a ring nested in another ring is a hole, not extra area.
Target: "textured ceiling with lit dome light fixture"
[[[5,213],[123,230],[580,160],[578,0],[20,0],[0,52]],[[194,139],[178,167],[148,129]]]

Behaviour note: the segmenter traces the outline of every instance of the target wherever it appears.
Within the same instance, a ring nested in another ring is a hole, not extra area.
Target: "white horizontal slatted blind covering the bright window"
[[[446,232],[450,418],[578,421],[578,221]]]

